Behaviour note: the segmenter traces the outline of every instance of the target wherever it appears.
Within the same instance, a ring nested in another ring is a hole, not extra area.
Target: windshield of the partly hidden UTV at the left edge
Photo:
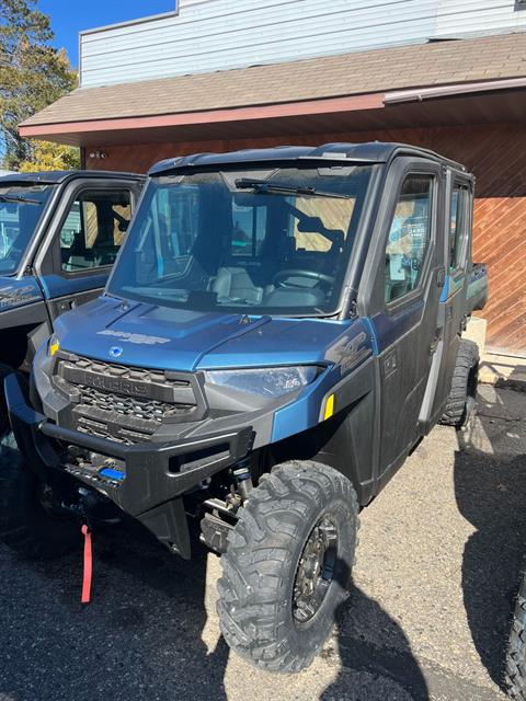
[[[11,275],[19,267],[52,188],[0,186],[0,275]]]

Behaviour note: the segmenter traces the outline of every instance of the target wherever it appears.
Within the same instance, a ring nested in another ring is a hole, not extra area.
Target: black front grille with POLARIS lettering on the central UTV
[[[72,427],[126,444],[148,440],[160,424],[203,416],[195,378],[60,353],[55,386],[71,401]]]

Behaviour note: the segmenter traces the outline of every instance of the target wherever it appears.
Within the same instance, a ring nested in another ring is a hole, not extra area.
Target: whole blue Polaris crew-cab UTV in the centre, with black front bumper
[[[392,143],[153,166],[104,294],[57,320],[28,393],[5,380],[27,467],[1,467],[4,539],[61,552],[71,515],[96,528],[113,508],[190,558],[196,517],[229,645],[309,665],[359,508],[472,409],[472,191],[458,163]]]

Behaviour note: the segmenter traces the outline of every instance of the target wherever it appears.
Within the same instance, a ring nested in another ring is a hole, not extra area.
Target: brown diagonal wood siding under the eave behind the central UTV
[[[104,168],[146,171],[163,158],[285,143],[402,141],[460,161],[477,175],[473,258],[490,273],[488,346],[526,354],[526,127],[484,125],[107,147]],[[88,166],[100,161],[88,159]]]

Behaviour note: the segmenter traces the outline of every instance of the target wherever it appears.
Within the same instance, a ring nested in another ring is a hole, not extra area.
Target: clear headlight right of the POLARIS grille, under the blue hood
[[[213,384],[231,387],[261,397],[282,397],[310,384],[321,372],[317,366],[297,368],[256,368],[251,370],[211,370],[206,379]]]

